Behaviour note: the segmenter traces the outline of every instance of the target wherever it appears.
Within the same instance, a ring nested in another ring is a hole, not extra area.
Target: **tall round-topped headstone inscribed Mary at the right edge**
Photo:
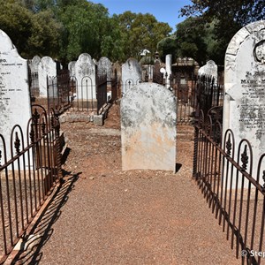
[[[250,141],[254,155],[253,172],[260,155],[265,153],[264,59],[263,20],[241,28],[234,35],[224,62],[223,133],[230,128],[236,143],[242,139]]]

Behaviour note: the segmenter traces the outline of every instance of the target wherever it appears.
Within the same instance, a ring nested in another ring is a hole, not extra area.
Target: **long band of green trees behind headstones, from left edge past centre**
[[[0,0],[0,28],[23,57],[50,56],[65,65],[79,54],[124,62],[140,50],[155,53],[168,37],[167,23],[151,14],[126,11],[110,17],[102,4],[86,0]]]

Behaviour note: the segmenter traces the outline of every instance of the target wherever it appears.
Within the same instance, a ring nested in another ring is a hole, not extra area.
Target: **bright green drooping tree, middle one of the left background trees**
[[[109,24],[109,13],[102,4],[79,1],[60,9],[58,17],[64,25],[61,57],[73,60],[83,52],[101,57],[100,43]]]

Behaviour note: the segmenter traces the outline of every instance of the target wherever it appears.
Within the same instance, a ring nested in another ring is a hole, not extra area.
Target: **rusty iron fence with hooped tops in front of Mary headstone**
[[[208,103],[206,104],[208,106]],[[253,161],[248,140],[236,143],[227,130],[222,135],[222,107],[200,111],[195,125],[193,178],[208,207],[231,240],[242,264],[261,264],[264,254],[264,155]],[[257,163],[257,172],[253,171]]]

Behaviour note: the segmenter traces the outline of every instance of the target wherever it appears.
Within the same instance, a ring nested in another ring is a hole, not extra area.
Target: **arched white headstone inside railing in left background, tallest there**
[[[95,109],[95,63],[89,54],[82,53],[79,55],[75,63],[75,73],[79,106],[82,104],[84,108]]]

